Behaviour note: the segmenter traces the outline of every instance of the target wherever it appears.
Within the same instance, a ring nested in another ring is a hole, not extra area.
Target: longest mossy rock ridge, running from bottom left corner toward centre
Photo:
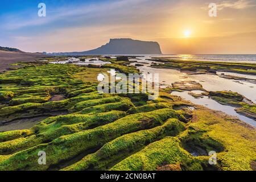
[[[128,115],[113,123],[99,126],[92,130],[65,135],[53,140],[51,143],[40,144],[39,146],[15,153],[7,160],[0,162],[0,169],[47,169],[51,164],[57,164],[61,160],[71,159],[91,148],[101,147],[105,143],[124,134],[161,125],[168,118],[177,118],[177,115],[176,111],[171,109]],[[46,152],[47,165],[38,164],[39,151]]]

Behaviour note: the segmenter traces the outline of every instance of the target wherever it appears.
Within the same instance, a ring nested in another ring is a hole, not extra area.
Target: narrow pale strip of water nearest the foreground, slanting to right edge
[[[234,109],[236,109],[236,107],[221,105],[218,102],[212,100],[211,98],[209,98],[207,96],[203,96],[202,98],[194,98],[193,96],[189,95],[187,91],[172,92],[171,94],[174,96],[180,96],[180,97],[184,98],[185,100],[191,101],[193,104],[204,105],[204,106],[208,107],[209,109],[218,110],[218,111],[222,111],[226,114],[233,115],[235,117],[238,117],[242,121],[256,127],[256,122],[253,119],[250,119],[243,115],[238,114],[234,110]]]

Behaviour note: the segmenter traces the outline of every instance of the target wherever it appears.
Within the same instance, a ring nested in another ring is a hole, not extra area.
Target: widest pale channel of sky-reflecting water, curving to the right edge
[[[149,57],[142,57],[141,60],[134,61],[138,61],[138,63],[152,62],[146,59],[149,59]],[[132,65],[134,64],[136,63],[133,63]],[[233,92],[238,92],[256,103],[256,85],[253,83],[245,81],[235,82],[234,80],[221,78],[217,75],[187,75],[186,73],[181,73],[175,69],[158,69],[150,68],[148,66],[149,65],[145,64],[143,67],[138,67],[138,69],[140,69],[143,73],[159,73],[159,83],[171,85],[177,81],[196,81],[203,85],[203,88],[208,91],[232,90]],[[232,73],[227,73],[227,75],[231,74]],[[250,75],[249,77],[256,79],[256,76]]]

